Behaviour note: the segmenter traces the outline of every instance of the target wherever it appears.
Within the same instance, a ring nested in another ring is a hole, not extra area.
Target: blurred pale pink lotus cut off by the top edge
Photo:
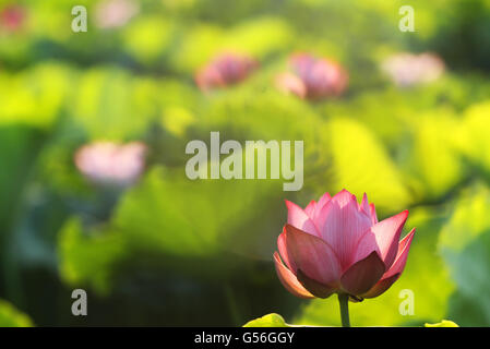
[[[95,9],[95,24],[99,28],[115,28],[123,26],[140,12],[140,5],[130,0],[106,0]]]

